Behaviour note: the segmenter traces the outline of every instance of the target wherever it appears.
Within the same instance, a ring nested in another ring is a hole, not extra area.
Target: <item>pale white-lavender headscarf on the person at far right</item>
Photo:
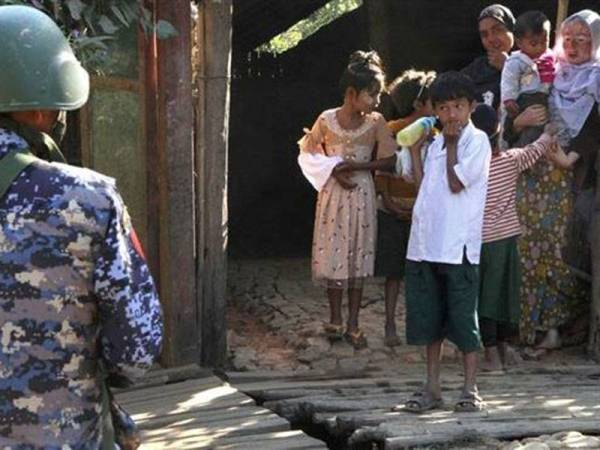
[[[591,58],[582,64],[569,64],[564,56],[562,32],[574,21],[587,26],[592,36]],[[584,9],[565,19],[560,30],[555,47],[558,70],[550,94],[550,113],[559,124],[559,140],[566,145],[579,134],[594,104],[600,104],[600,15]]]

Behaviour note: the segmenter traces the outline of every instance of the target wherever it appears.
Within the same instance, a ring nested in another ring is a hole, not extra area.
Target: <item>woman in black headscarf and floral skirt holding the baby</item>
[[[501,103],[502,72],[514,45],[515,25],[515,17],[507,7],[494,4],[484,8],[478,17],[478,30],[486,55],[475,59],[462,70],[475,82],[478,101],[494,108]],[[521,110],[512,111],[512,117],[505,121],[504,138],[509,147],[512,147],[519,140],[522,131],[539,127],[547,121],[548,111],[545,106],[523,105]],[[549,173],[552,173],[552,179],[548,178]],[[572,279],[570,274],[565,274],[566,266],[561,262],[559,250],[564,224],[571,211],[568,183],[563,180],[564,177],[565,174],[561,171],[550,169],[550,164],[546,161],[538,164],[537,168],[526,171],[521,177],[519,216],[524,228],[524,235],[520,239],[523,263],[522,338],[528,343],[533,343],[535,330],[539,328],[543,317],[561,317],[558,321],[552,319],[547,329],[553,329],[554,323],[562,323],[563,320],[562,309],[561,312],[556,312],[554,305],[564,303],[564,299],[560,302],[555,300],[558,290],[547,286],[547,272],[563,277],[568,275],[567,278]],[[543,220],[540,208],[547,212]],[[550,234],[556,238],[549,237]],[[542,254],[545,255],[544,262],[538,265]],[[531,262],[533,259],[537,260],[536,264]],[[549,306],[549,311],[542,312],[546,305]],[[553,337],[553,333],[550,333],[550,337]],[[543,345],[548,346],[547,344]]]

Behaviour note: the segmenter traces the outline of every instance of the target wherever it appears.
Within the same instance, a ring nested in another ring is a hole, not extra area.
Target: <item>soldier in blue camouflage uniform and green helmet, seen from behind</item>
[[[60,110],[87,101],[89,80],[59,28],[34,8],[0,6],[0,42],[1,166],[27,149],[51,154],[46,133]],[[34,157],[4,191],[0,449],[100,448],[100,363],[109,376],[136,378],[162,340],[127,210],[114,180]]]

